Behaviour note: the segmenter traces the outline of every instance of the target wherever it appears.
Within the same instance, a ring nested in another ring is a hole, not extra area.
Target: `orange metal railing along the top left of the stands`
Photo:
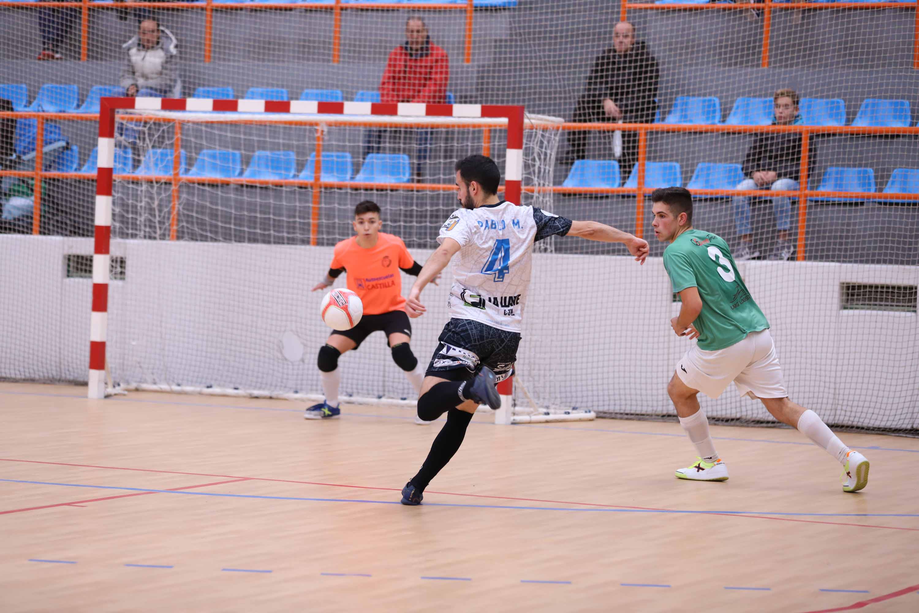
[[[444,5],[437,2],[430,4],[400,5],[386,2],[374,4],[349,5],[342,0],[335,0],[334,5],[315,4],[306,0],[296,4],[269,4],[269,3],[241,3],[241,4],[214,4],[213,0],[205,2],[118,2],[101,4],[90,0],[73,0],[71,2],[8,2],[0,1],[3,8],[32,9],[41,7],[51,8],[79,8],[82,11],[80,18],[80,60],[86,61],[89,47],[89,11],[92,9],[111,10],[122,8],[155,8],[158,10],[203,10],[204,11],[204,62],[210,62],[213,49],[214,11],[264,11],[264,10],[323,10],[332,11],[334,14],[332,26],[332,62],[338,63],[341,58],[342,11],[373,11],[373,10],[406,10],[413,11],[463,11],[465,13],[465,41],[463,45],[463,62],[472,62],[472,21],[475,14],[472,0],[465,4]]]

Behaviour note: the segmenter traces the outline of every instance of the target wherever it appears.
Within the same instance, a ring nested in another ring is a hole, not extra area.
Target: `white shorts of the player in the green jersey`
[[[751,332],[732,346],[706,351],[693,345],[680,363],[676,375],[686,386],[718,398],[731,381],[741,395],[751,398],[785,398],[782,368],[768,330]]]

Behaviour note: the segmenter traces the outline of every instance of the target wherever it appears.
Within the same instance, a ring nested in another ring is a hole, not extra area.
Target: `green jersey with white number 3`
[[[698,288],[698,348],[716,351],[769,327],[743,283],[728,244],[718,234],[687,230],[664,250],[674,291]]]

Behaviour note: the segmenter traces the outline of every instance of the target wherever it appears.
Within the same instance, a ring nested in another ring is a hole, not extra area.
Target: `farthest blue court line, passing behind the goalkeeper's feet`
[[[59,394],[59,393],[38,393],[38,392],[4,392],[0,391],[0,394],[9,394],[9,395],[22,395],[22,396],[47,396],[51,398],[77,398],[80,400],[85,400],[85,396],[71,395],[71,394]],[[156,400],[142,400],[140,398],[109,398],[110,401],[115,401],[119,403],[153,403],[153,404],[173,404],[176,406],[203,406],[212,409],[243,409],[245,411],[273,411],[279,413],[302,413],[302,409],[280,409],[271,406],[234,406],[233,404],[212,404],[212,403],[179,403],[176,401],[156,401]],[[369,417],[375,419],[395,419],[395,420],[414,420],[414,415],[409,416],[392,416],[392,415],[378,415],[378,414],[364,414],[364,413],[350,413],[346,412],[343,416],[345,417]],[[441,418],[443,419],[443,418]],[[476,424],[479,426],[495,426],[493,422],[476,422],[473,421],[471,424]],[[683,438],[686,437],[685,434],[675,434],[669,432],[636,432],[632,430],[612,430],[607,428],[584,428],[584,427],[568,427],[568,426],[550,426],[547,424],[516,424],[515,427],[519,426],[529,426],[537,427],[543,430],[572,430],[577,432],[605,432],[609,434],[627,434],[627,435],[639,435],[642,437],[675,437]],[[789,429],[790,428],[784,428]],[[857,433],[856,433],[857,434]],[[879,435],[881,436],[881,435]],[[769,443],[772,445],[800,445],[803,447],[808,447],[813,445],[811,442],[805,441],[793,441],[793,440],[771,440],[767,438],[740,438],[740,437],[711,437],[712,440],[732,440],[740,441],[743,443]],[[919,449],[902,449],[902,448],[891,448],[891,447],[879,447],[877,445],[870,447],[851,447],[853,449],[872,449],[876,451],[902,451],[903,453],[919,453]]]

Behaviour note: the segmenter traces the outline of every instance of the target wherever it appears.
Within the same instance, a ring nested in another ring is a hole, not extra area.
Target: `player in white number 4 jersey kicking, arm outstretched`
[[[596,221],[571,221],[499,199],[501,173],[484,155],[456,165],[457,197],[462,208],[440,228],[440,247],[418,273],[405,312],[425,312],[421,291],[454,255],[450,321],[440,334],[418,398],[418,416],[447,423],[434,439],[421,470],[403,488],[403,505],[420,505],[425,487],[459,449],[479,404],[497,409],[495,383],[511,376],[520,324],[527,304],[533,244],[553,234],[623,243],[644,264],[648,243]]]

